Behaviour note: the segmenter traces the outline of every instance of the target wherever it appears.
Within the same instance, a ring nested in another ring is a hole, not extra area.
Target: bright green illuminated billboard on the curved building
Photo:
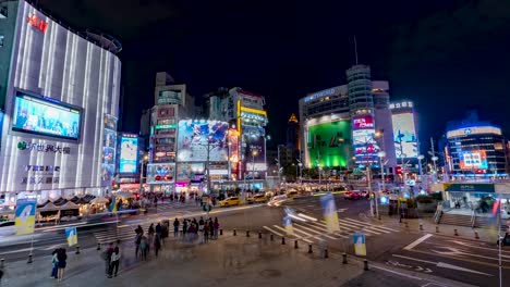
[[[307,148],[311,166],[347,166],[351,157],[350,136],[349,120],[309,126]]]

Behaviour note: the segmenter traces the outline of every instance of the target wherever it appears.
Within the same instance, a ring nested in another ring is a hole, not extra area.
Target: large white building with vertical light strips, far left
[[[76,34],[26,1],[0,7],[2,201],[109,194],[122,47]]]

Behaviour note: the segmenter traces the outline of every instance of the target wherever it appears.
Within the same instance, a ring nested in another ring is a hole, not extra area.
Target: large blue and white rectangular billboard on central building
[[[228,130],[229,124],[224,122],[180,121],[178,129],[178,161],[228,161]]]

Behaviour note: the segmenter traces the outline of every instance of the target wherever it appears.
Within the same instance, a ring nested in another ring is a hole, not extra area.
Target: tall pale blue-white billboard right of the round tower
[[[391,122],[397,158],[416,158],[418,149],[414,115],[412,113],[392,114]]]

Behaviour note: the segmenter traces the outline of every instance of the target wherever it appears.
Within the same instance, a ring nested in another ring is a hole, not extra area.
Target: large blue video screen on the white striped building
[[[12,130],[77,140],[82,110],[17,92]]]

